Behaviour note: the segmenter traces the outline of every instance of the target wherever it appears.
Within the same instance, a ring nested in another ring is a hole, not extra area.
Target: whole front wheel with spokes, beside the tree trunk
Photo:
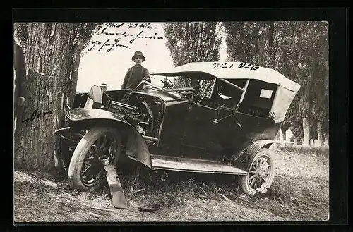
[[[68,167],[71,187],[98,190],[107,183],[104,164],[118,159],[121,137],[114,128],[95,127],[78,142]]]

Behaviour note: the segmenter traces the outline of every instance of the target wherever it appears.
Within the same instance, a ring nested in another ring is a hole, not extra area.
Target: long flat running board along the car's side
[[[152,169],[186,171],[198,173],[215,173],[230,175],[247,175],[246,171],[227,164],[203,159],[189,159],[151,154]]]

